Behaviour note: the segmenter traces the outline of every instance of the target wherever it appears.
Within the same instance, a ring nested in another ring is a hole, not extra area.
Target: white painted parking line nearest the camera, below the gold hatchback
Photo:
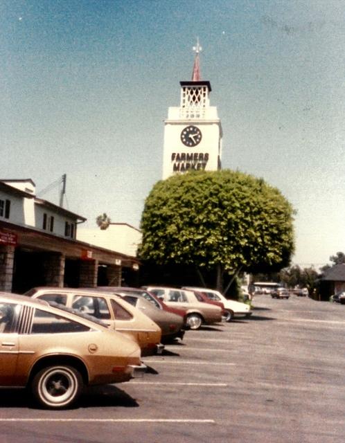
[[[215,423],[213,419],[179,418],[1,418],[0,422],[86,422],[86,423]]]

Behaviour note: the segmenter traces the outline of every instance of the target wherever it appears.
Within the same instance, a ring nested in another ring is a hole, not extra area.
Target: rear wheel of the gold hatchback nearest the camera
[[[82,388],[80,372],[67,365],[47,366],[35,374],[31,383],[35,401],[48,409],[69,408],[80,397]]]

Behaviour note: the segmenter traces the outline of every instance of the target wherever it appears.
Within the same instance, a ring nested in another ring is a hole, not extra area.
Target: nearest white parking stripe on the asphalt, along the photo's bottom
[[[87,422],[87,423],[215,423],[212,419],[179,419],[179,418],[139,418],[139,419],[121,419],[121,418],[1,418],[0,422]]]

